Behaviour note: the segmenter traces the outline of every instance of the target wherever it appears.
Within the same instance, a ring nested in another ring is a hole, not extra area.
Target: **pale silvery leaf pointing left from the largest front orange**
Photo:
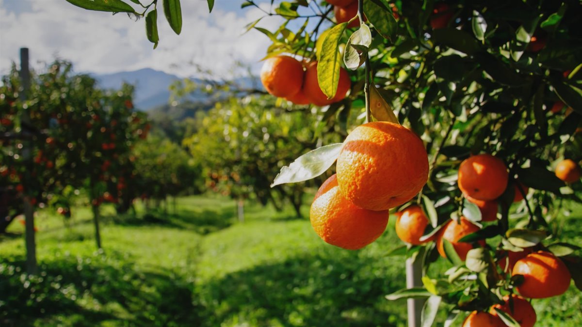
[[[281,168],[281,172],[275,177],[271,187],[285,183],[303,182],[320,176],[338,159],[342,146],[342,143],[334,143],[301,155],[289,166]]]

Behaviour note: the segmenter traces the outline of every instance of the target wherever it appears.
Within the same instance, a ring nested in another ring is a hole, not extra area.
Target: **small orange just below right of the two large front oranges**
[[[428,226],[428,218],[418,205],[411,205],[396,214],[396,235],[400,240],[418,245],[430,240],[420,241],[424,229]]]

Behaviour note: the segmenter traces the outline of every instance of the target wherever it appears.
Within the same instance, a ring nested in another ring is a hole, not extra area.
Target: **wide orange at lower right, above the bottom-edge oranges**
[[[558,296],[570,286],[570,272],[555,255],[538,251],[516,262],[512,276],[523,275],[524,281],[517,292],[524,297],[545,298]]]

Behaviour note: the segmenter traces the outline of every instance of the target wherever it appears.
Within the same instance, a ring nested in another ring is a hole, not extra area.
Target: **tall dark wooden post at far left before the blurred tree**
[[[29,49],[20,48],[20,80],[22,81],[22,94],[20,99],[26,101],[30,90],[30,69],[29,69]],[[30,115],[22,111],[20,116],[20,131],[24,136],[22,147],[22,158],[27,169],[24,173],[24,180],[30,182],[30,169],[32,168],[32,142],[30,136]],[[30,191],[30,190],[25,190]],[[24,243],[26,245],[26,272],[29,275],[36,275],[38,272],[36,258],[36,234],[34,232],[34,208],[30,203],[29,196],[23,197],[24,201]]]

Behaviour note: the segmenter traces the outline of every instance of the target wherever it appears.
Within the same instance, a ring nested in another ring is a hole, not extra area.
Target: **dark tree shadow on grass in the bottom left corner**
[[[13,273],[22,269],[23,260],[0,262],[0,322],[7,325],[51,325],[63,317],[83,326],[200,325],[191,283],[171,271],[140,270],[100,253],[55,258],[30,279]]]

